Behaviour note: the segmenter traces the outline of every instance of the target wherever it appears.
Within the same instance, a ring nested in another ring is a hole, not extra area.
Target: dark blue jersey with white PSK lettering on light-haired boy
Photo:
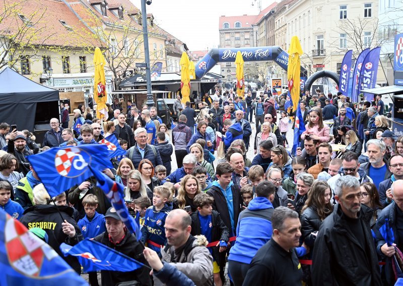
[[[165,245],[165,219],[171,209],[167,204],[161,209],[156,210],[155,206],[150,206],[146,210],[146,215],[144,216],[144,226],[142,228],[142,238],[143,243],[148,242],[148,247],[160,253],[160,247],[153,245]]]

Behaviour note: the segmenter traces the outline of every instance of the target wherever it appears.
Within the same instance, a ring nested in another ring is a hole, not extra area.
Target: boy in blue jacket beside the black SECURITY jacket
[[[78,222],[84,238],[94,238],[106,231],[105,217],[95,209],[98,207],[96,195],[89,194],[83,198],[85,217]],[[97,272],[88,272],[91,285],[98,285]]]

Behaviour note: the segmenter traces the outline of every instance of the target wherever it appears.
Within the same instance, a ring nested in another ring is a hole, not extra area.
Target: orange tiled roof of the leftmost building
[[[21,42],[34,45],[88,47],[99,45],[99,40],[94,39],[92,31],[82,23],[64,2],[56,0],[4,0],[0,9],[4,10],[15,6],[10,15],[6,15],[0,24],[0,33],[7,31],[9,36],[20,35]],[[15,12],[18,11],[18,12]],[[7,13],[7,12],[6,12]],[[15,13],[15,14],[14,14]],[[21,29],[23,20],[18,14],[23,15],[32,24],[23,28],[27,33],[22,37]],[[60,21],[72,28],[72,31],[64,27]]]

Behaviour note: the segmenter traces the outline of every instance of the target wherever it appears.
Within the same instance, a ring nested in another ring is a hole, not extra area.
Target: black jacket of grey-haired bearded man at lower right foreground
[[[381,285],[378,257],[370,222],[373,211],[364,204],[358,218],[365,243],[357,241],[347,226],[340,204],[320,226],[312,261],[313,285]]]

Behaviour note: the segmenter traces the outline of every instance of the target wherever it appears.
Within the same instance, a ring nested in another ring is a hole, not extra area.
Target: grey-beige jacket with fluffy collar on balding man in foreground
[[[207,239],[204,235],[189,235],[182,253],[176,260],[174,250],[169,245],[161,249],[161,260],[175,266],[197,286],[212,286],[213,257],[206,245]]]

